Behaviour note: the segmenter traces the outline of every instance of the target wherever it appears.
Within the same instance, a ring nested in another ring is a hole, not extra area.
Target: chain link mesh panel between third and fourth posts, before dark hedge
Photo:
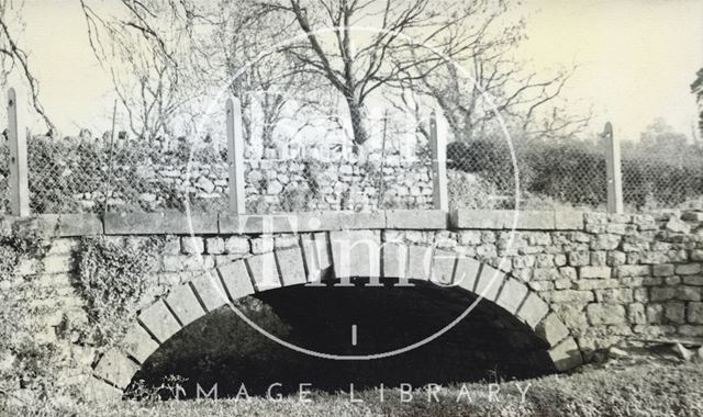
[[[605,153],[596,143],[455,140],[447,169],[454,208],[602,208],[607,196]]]

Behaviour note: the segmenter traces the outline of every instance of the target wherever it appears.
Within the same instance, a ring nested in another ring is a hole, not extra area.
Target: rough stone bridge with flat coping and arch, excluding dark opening
[[[183,327],[238,298],[321,282],[431,282],[480,295],[544,341],[566,371],[599,349],[637,339],[703,337],[703,213],[387,211],[281,215],[45,215],[57,238],[18,267],[60,288],[44,313],[46,340],[64,346],[91,397],[120,397],[141,365]],[[5,217],[4,223],[12,222]],[[80,237],[135,245],[165,239],[153,296],[121,343],[98,354],[57,337],[85,309],[72,291]],[[41,262],[41,272],[36,268]],[[437,305],[442,308],[442,305]],[[72,313],[71,313],[72,312]]]

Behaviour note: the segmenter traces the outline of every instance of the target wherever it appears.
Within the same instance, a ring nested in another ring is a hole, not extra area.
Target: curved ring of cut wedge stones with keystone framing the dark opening
[[[87,397],[121,397],[160,345],[190,323],[235,300],[277,288],[355,277],[425,280],[481,295],[482,302],[494,303],[543,338],[557,370],[582,362],[576,339],[561,319],[512,274],[432,246],[400,241],[381,245],[378,230],[331,232],[304,235],[299,247],[219,264],[174,288],[140,312],[125,335],[123,350],[112,349],[99,359],[86,386]]]

